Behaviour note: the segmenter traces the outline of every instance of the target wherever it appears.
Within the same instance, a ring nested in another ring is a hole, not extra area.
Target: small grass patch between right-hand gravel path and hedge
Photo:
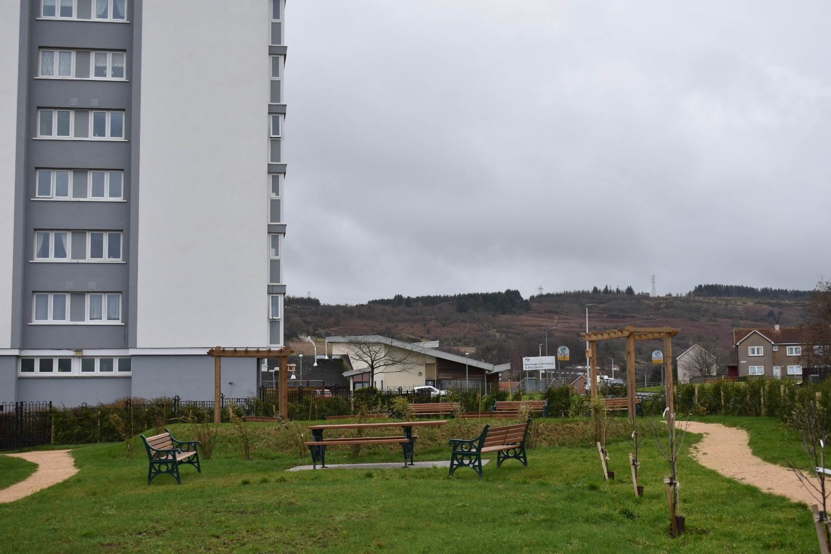
[[[810,469],[799,433],[779,418],[742,417],[740,415],[706,415],[694,418],[704,423],[723,424],[745,429],[750,437],[750,450],[766,462],[788,467],[794,460],[800,468]]]

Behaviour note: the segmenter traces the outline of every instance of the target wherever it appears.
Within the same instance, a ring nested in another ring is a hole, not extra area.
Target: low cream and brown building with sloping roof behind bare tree
[[[499,387],[499,374],[510,364],[493,365],[469,355],[439,350],[439,341],[405,342],[386,336],[329,336],[332,355],[347,356],[352,370],[345,371],[352,390],[374,386],[379,390],[411,390],[432,385],[438,389]],[[371,368],[375,375],[371,376]]]

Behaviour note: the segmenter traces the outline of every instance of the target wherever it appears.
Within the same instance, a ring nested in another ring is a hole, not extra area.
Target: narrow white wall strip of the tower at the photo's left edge
[[[17,167],[17,60],[20,2],[0,2],[0,348],[12,341],[14,189]],[[22,153],[21,153],[22,154]]]

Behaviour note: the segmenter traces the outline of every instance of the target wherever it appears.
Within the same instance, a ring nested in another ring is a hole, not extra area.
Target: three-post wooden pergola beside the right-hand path
[[[580,333],[584,341],[588,341],[586,356],[589,359],[589,381],[592,388],[592,398],[597,398],[597,341],[609,339],[626,339],[626,388],[627,408],[629,417],[635,417],[636,406],[636,383],[635,383],[635,343],[637,341],[664,341],[664,382],[666,383],[666,407],[670,413],[674,413],[675,407],[672,400],[672,337],[678,334],[680,329],[673,327],[632,327],[626,326],[622,329],[608,329],[607,331],[591,331]]]

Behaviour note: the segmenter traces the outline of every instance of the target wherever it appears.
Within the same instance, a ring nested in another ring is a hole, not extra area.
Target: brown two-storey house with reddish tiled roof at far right
[[[804,327],[781,327],[733,330],[735,361],[740,377],[802,379],[802,351],[810,342]]]

